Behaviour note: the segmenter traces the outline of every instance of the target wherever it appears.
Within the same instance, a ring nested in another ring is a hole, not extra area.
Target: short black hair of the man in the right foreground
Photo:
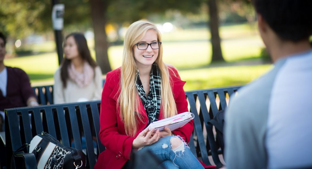
[[[253,0],[256,12],[282,40],[298,42],[312,35],[311,0]]]

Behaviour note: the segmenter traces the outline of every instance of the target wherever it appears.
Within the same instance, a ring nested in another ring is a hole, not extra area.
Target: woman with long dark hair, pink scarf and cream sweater
[[[85,36],[66,36],[61,66],[54,74],[54,104],[100,100],[102,72],[92,59]]]

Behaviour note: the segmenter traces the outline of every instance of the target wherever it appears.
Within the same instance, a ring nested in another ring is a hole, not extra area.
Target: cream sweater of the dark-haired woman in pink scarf
[[[54,104],[100,100],[102,89],[102,71],[99,66],[95,68],[93,81],[84,88],[80,88],[74,81],[69,79],[67,80],[66,88],[63,88],[61,67],[59,67],[54,74]]]

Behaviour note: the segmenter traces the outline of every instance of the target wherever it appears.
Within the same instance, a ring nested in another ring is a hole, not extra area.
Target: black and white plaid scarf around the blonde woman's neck
[[[145,91],[143,89],[142,82],[140,80],[139,71],[137,83],[135,84],[142,104],[144,105],[145,112],[147,117],[149,118],[149,123],[153,123],[158,120],[159,111],[160,111],[160,72],[158,66],[156,64],[152,65],[152,70],[149,79],[149,94],[146,96]]]

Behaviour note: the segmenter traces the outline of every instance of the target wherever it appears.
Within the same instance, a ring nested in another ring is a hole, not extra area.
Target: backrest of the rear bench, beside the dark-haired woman
[[[102,85],[104,86],[105,79]],[[40,105],[54,104],[53,102],[53,85],[32,87]]]

